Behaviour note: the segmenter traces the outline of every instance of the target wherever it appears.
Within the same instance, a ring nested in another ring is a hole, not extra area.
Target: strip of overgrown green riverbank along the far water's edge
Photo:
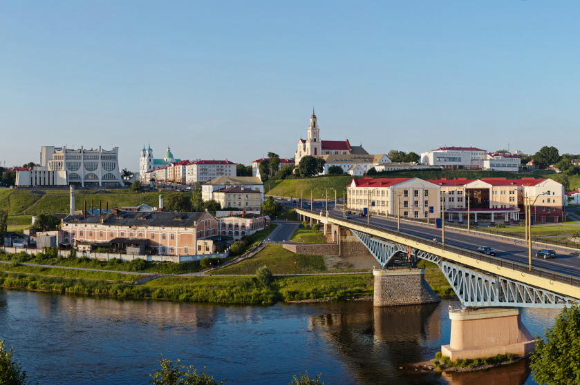
[[[218,304],[274,304],[301,299],[373,295],[373,276],[277,277],[270,286],[254,277],[162,277],[142,285],[104,280],[0,273],[0,286],[56,293]]]

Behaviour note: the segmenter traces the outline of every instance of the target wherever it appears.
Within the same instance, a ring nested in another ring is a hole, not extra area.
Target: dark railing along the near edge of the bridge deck
[[[300,209],[300,210],[311,213],[313,216],[320,215],[320,213],[317,213],[317,212],[312,211],[312,210],[305,210],[305,209]],[[527,266],[526,264],[519,264],[518,262],[506,261],[505,259],[501,259],[498,257],[492,257],[491,255],[474,253],[471,250],[465,250],[465,248],[459,248],[456,246],[449,246],[449,245],[445,245],[445,244],[440,244],[439,242],[429,241],[428,239],[417,237],[415,235],[400,233],[400,232],[395,231],[395,230],[390,230],[389,228],[384,228],[381,226],[375,226],[375,225],[371,225],[371,224],[364,224],[364,223],[360,223],[357,221],[349,221],[348,219],[344,219],[342,217],[335,217],[334,215],[328,215],[328,218],[339,220],[339,221],[350,222],[356,226],[368,228],[371,230],[382,231],[383,233],[394,235],[396,237],[404,237],[405,239],[409,239],[410,241],[420,242],[420,243],[424,244],[425,246],[429,246],[431,248],[437,248],[439,250],[449,251],[451,253],[456,253],[458,255],[462,255],[462,256],[465,256],[468,258],[472,258],[472,259],[476,259],[478,261],[485,261],[489,264],[495,264],[499,268],[502,268],[502,267],[511,268],[512,270],[521,271],[522,273],[552,279],[552,281],[554,281],[554,282],[562,282],[564,284],[570,284],[572,286],[580,287],[580,277],[572,277],[572,275],[554,273],[553,271],[545,270],[543,268],[532,267],[532,270],[530,270],[529,266]],[[492,273],[492,272],[489,272],[489,273]]]

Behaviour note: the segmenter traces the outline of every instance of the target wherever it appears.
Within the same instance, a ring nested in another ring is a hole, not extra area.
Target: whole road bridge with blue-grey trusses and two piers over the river
[[[385,219],[383,223],[375,219],[373,224],[366,224],[328,211],[296,211],[301,218],[324,224],[325,233],[330,228],[336,241],[341,233],[350,231],[368,248],[381,266],[373,271],[375,306],[438,301],[424,281],[424,270],[416,268],[420,259],[436,264],[462,305],[462,309],[449,310],[451,343],[442,346],[442,353],[451,359],[530,353],[534,341],[521,323],[519,308],[563,308],[580,299],[580,274],[562,273],[561,266],[550,268],[546,264],[530,270],[527,264],[507,255],[474,253],[474,242],[480,239],[465,235],[467,244],[471,244],[469,250],[431,241],[432,232],[425,229],[415,230],[415,234],[409,226],[406,231],[392,230],[385,226]]]

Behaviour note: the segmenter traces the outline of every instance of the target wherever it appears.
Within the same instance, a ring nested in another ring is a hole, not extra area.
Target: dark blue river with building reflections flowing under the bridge
[[[160,355],[225,384],[535,384],[526,362],[440,375],[400,370],[449,343],[449,304],[372,302],[229,306],[55,295],[0,288],[0,339],[28,378],[47,384],[147,384]],[[534,333],[559,310],[524,309]]]

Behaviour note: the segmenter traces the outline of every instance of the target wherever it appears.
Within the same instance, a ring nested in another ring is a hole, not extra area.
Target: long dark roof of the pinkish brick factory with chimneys
[[[167,211],[120,211],[118,214],[109,214],[104,218],[103,224],[107,226],[167,226],[167,227],[193,227],[197,221],[207,213],[169,213]],[[144,218],[144,219],[139,219]],[[63,222],[65,224],[100,224],[97,215],[83,218],[82,215],[69,215]]]

